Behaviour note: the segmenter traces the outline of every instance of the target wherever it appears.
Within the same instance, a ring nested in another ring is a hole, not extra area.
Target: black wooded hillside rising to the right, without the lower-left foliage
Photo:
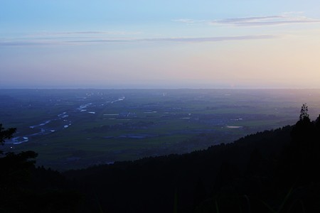
[[[65,175],[86,195],[84,212],[317,212],[319,126],[302,118],[206,151]]]

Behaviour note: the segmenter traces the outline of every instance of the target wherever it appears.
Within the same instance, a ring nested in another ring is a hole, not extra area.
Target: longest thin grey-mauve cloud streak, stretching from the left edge
[[[20,40],[0,41],[0,46],[28,46],[28,45],[86,45],[90,43],[134,43],[134,42],[178,42],[178,43],[204,43],[222,42],[226,40],[257,40],[281,38],[282,35],[240,35],[219,37],[174,37],[174,38],[142,38],[142,39],[86,39],[86,40]]]

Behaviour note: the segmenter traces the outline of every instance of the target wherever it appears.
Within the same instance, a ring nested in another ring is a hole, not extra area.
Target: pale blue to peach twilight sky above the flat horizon
[[[320,1],[0,0],[0,88],[320,88]]]

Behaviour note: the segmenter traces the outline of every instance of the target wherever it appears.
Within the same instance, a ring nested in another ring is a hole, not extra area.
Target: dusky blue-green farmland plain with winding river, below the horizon
[[[188,153],[294,124],[319,89],[0,89],[0,124],[16,127],[4,151],[33,150],[66,170]]]

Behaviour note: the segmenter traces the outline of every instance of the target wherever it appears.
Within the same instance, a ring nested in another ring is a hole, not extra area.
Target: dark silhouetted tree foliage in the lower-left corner
[[[4,130],[0,139],[16,129]],[[36,168],[33,151],[0,155],[0,212],[79,212],[81,195],[60,173]]]

